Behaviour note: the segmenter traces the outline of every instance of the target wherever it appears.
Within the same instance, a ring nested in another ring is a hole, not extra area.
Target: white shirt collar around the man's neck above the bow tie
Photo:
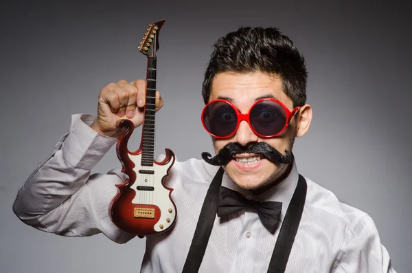
[[[282,212],[280,215],[280,220],[283,221],[286,210],[288,209],[290,199],[293,197],[293,193],[295,193],[295,188],[297,186],[297,180],[299,178],[299,173],[297,171],[297,166],[295,163],[295,158],[293,158],[292,169],[290,173],[279,183],[275,186],[268,188],[264,193],[260,195],[252,195],[249,190],[245,190],[244,188],[240,188],[236,185],[232,179],[227,175],[225,172],[222,177],[222,186],[226,188],[230,188],[231,190],[236,190],[239,193],[242,193],[244,197],[248,199],[255,199],[258,201],[278,201],[282,202]],[[287,166],[285,166],[286,168]]]

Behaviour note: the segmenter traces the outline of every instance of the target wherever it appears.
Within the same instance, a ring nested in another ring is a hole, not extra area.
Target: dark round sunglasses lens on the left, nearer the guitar
[[[203,124],[212,135],[225,137],[235,131],[238,116],[227,102],[212,102],[203,110]]]

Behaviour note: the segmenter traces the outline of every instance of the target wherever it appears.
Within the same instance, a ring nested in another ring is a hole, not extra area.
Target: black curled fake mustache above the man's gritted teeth
[[[247,146],[242,146],[235,142],[229,142],[222,149],[220,149],[219,153],[214,157],[211,157],[210,153],[203,152],[202,158],[205,162],[211,165],[222,166],[229,163],[229,161],[233,160],[233,156],[240,153],[255,153],[258,155],[263,155],[266,159],[275,164],[290,164],[292,162],[292,153],[290,153],[290,151],[285,150],[285,155],[282,155],[282,153],[266,142],[251,142],[250,144],[247,144]]]

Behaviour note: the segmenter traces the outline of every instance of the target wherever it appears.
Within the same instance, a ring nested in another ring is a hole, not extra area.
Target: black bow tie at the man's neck
[[[236,190],[220,187],[218,200],[218,217],[231,215],[244,208],[251,208],[258,212],[260,221],[267,230],[274,233],[280,221],[282,203],[276,201],[259,202],[249,200]]]

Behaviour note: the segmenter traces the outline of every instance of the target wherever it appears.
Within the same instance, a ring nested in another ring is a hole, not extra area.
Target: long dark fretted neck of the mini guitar
[[[148,57],[146,104],[141,134],[141,166],[153,166],[155,155],[156,57]]]

